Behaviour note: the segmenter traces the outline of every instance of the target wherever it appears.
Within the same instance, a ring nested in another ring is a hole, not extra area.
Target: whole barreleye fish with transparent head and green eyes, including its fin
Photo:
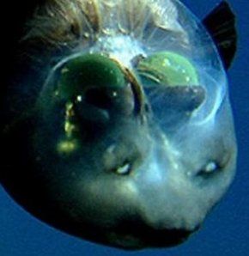
[[[4,189],[88,241],[184,242],[235,173],[228,3],[203,21],[178,0],[30,4],[2,67]]]

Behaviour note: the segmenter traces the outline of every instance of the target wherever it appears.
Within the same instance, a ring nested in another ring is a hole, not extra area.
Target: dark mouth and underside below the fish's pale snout
[[[53,223],[54,224],[54,223]],[[83,226],[83,227],[82,227]],[[184,243],[193,233],[199,229],[154,229],[139,222],[120,222],[115,227],[103,228],[96,225],[83,225],[66,229],[58,228],[78,238],[94,241],[103,246],[116,247],[125,251],[138,251],[149,248],[176,247]],[[88,230],[82,234],[82,228]],[[69,230],[70,229],[70,230]]]

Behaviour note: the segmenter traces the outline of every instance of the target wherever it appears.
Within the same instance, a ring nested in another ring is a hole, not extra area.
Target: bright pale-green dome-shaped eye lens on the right
[[[168,85],[197,85],[197,71],[191,62],[174,52],[158,52],[143,59],[137,67],[139,74],[148,80]]]

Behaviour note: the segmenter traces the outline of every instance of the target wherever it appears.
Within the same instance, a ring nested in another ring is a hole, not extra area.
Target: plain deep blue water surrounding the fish
[[[218,1],[185,0],[200,18]],[[127,253],[65,235],[13,202],[0,187],[0,256],[244,256],[249,255],[249,1],[229,1],[238,18],[240,42],[229,70],[229,87],[239,143],[238,172],[222,203],[203,229],[173,249]]]

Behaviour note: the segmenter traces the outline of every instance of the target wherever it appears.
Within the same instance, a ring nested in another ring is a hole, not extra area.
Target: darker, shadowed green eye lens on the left
[[[73,58],[60,72],[58,92],[66,98],[82,94],[89,87],[125,86],[125,76],[118,64],[100,54]]]

